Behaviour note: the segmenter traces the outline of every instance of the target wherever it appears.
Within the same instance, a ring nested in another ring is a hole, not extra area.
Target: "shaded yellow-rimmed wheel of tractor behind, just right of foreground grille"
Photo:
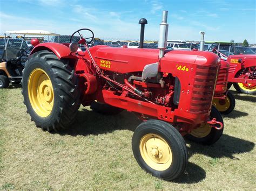
[[[213,105],[219,110],[221,114],[230,114],[235,107],[235,98],[233,94],[228,91],[227,96],[224,99],[213,98]]]

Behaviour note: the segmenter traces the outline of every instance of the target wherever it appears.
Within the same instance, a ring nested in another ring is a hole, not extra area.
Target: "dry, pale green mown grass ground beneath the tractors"
[[[140,121],[80,108],[72,130],[51,134],[26,114],[21,87],[0,89],[0,189],[247,189],[255,190],[256,96],[237,94],[235,110],[212,146],[186,141],[188,166],[176,181],[147,174],[133,157]]]

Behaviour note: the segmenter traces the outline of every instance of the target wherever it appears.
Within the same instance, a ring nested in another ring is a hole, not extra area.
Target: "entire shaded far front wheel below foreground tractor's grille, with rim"
[[[216,121],[223,123],[223,118],[220,112],[214,106],[212,106],[210,114],[210,119],[213,118],[216,118]],[[191,133],[185,135],[185,137],[195,143],[212,145],[217,142],[217,140],[219,140],[219,138],[223,134],[223,130],[224,126],[223,129],[217,130],[215,128],[212,128],[209,124],[204,123],[201,124],[201,126],[197,129],[193,129]]]

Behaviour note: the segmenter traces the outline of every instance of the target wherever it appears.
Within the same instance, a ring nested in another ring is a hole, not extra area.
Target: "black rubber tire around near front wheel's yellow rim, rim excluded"
[[[154,133],[164,138],[172,152],[172,163],[164,171],[151,168],[142,158],[139,145],[144,135]],[[132,151],[140,167],[158,178],[170,181],[178,178],[187,166],[187,148],[184,138],[171,124],[159,120],[148,120],[138,125],[132,137]]]

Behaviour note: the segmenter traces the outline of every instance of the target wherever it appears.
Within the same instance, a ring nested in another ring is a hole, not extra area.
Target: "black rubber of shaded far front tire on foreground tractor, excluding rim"
[[[223,123],[223,118],[220,114],[220,112],[212,105],[212,110],[211,110],[211,119],[212,118],[216,118],[216,121]],[[186,134],[184,137],[187,138],[188,140],[191,140],[192,142],[198,143],[198,144],[202,144],[202,145],[212,145],[215,142],[217,142],[219,140],[219,138],[223,135],[223,130],[224,130],[224,126],[223,129],[221,130],[217,130],[215,128],[212,128],[210,133],[205,136],[205,137],[194,137],[191,134]]]

